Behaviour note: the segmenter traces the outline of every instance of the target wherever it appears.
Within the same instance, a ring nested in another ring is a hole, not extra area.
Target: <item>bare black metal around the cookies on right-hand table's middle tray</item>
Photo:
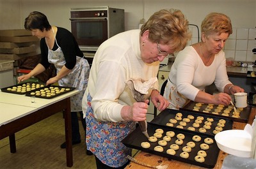
[[[202,121],[199,128],[204,127],[204,122],[207,121],[207,117],[210,117],[214,120],[212,122],[211,129],[206,129],[206,133],[204,133],[206,135],[213,135],[214,136],[214,133],[212,133],[212,131],[214,131],[214,129],[216,128],[220,119],[224,119],[226,121],[225,126],[223,127],[223,131],[227,130],[227,129],[232,129],[233,121],[230,120],[230,119],[221,118],[221,117],[217,117],[217,116],[212,116],[212,115],[209,115],[209,114],[198,114],[198,113],[195,113],[195,112],[188,112],[186,110],[173,110],[173,109],[163,110],[163,112],[158,114],[151,122],[154,123],[154,124],[159,124],[159,125],[162,125],[162,126],[166,126],[166,123],[169,122],[170,119],[174,119],[174,117],[177,113],[182,114],[182,119],[184,117],[188,117],[188,115],[193,115],[195,117],[195,119],[191,120],[190,122],[187,122],[187,125],[184,126],[184,129],[188,129],[189,126],[193,127],[193,123],[195,122],[196,117],[198,117],[198,116],[204,117],[204,121]],[[169,128],[176,128],[176,126],[179,125],[179,122],[180,121],[178,121],[176,124],[174,124],[173,127],[169,127]],[[197,135],[200,134],[199,128],[195,128],[195,132],[197,133]]]

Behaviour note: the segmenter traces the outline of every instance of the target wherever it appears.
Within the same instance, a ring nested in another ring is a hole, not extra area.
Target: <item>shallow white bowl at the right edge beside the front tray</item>
[[[215,140],[221,151],[241,158],[251,157],[252,136],[243,129],[221,131]]]

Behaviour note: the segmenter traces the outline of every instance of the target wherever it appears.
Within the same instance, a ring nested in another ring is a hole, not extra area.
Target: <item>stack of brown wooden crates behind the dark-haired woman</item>
[[[0,30],[0,59],[12,60],[13,76],[17,76],[19,59],[38,55],[39,39],[26,29]]]

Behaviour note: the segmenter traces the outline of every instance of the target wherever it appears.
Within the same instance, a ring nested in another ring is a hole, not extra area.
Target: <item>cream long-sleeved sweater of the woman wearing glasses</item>
[[[83,112],[86,112],[87,95],[90,93],[95,118],[100,121],[124,121],[122,107],[135,102],[125,82],[129,78],[148,80],[157,77],[158,70],[159,62],[146,64],[141,60],[139,29],[109,38],[100,45],[93,58],[83,97]],[[154,89],[159,89],[158,83]]]

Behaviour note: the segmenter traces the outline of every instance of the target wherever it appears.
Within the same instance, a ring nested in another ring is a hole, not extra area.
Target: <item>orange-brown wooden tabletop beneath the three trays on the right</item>
[[[251,114],[248,120],[248,124],[252,124],[253,119],[255,119],[255,115],[256,115],[256,108],[252,108],[251,110]],[[244,126],[246,124],[242,123],[242,122],[233,122],[233,129],[244,129]],[[223,160],[225,159],[225,157],[228,154],[220,151],[219,157],[218,157],[218,161],[216,163],[216,165],[214,166],[214,169],[220,169],[222,164],[223,164]],[[190,168],[190,169],[198,169],[198,168],[203,168],[201,166],[196,166],[196,165],[191,165],[188,163],[183,163],[181,161],[177,161],[174,159],[168,159],[168,158],[164,158],[161,156],[157,156],[154,154],[150,154],[148,152],[142,152],[140,151],[138,154],[136,154],[136,156],[134,157],[136,160],[140,161],[141,163],[145,163],[147,165],[150,166],[157,166],[157,165],[161,165],[163,163],[163,165],[167,165],[168,168],[175,168],[175,169],[184,169],[184,168]],[[125,167],[125,169],[146,169],[146,168],[150,168],[147,166],[142,166],[142,165],[138,165],[137,163],[131,162],[129,165],[127,165]]]

